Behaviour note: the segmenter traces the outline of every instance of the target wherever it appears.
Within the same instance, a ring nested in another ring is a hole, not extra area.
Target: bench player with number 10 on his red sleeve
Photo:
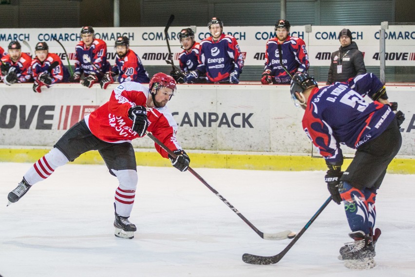
[[[104,74],[110,69],[107,61],[107,44],[102,39],[94,37],[94,28],[85,26],[81,29],[82,41],[75,47],[74,81],[81,82],[91,88],[99,83]],[[81,75],[85,78],[81,81]]]

